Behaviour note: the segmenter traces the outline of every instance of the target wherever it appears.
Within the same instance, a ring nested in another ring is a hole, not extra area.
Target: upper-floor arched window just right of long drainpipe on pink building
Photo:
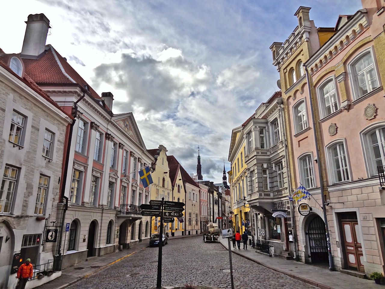
[[[320,102],[320,113],[322,118],[325,118],[338,110],[334,79],[328,80],[318,89],[318,99]]]

